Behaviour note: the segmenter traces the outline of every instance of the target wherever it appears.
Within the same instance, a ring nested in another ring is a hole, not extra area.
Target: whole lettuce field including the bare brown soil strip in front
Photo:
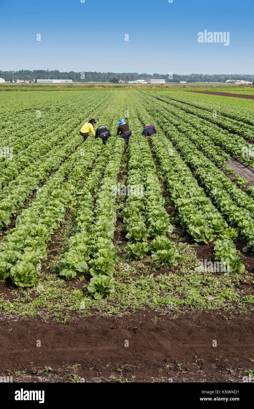
[[[189,94],[1,92],[0,373],[243,382],[253,370],[254,102]],[[105,145],[83,141],[91,117]]]

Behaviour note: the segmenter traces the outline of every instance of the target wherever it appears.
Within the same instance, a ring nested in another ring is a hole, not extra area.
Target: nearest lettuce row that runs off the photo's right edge
[[[180,149],[186,162],[195,169],[195,173],[205,190],[214,200],[228,222],[247,239],[247,247],[254,251],[254,200],[236,186],[220,171],[197,147],[185,133],[178,132],[167,117],[159,117],[152,101],[147,101],[147,109],[157,118],[172,141]],[[156,111],[156,112],[155,112]]]

